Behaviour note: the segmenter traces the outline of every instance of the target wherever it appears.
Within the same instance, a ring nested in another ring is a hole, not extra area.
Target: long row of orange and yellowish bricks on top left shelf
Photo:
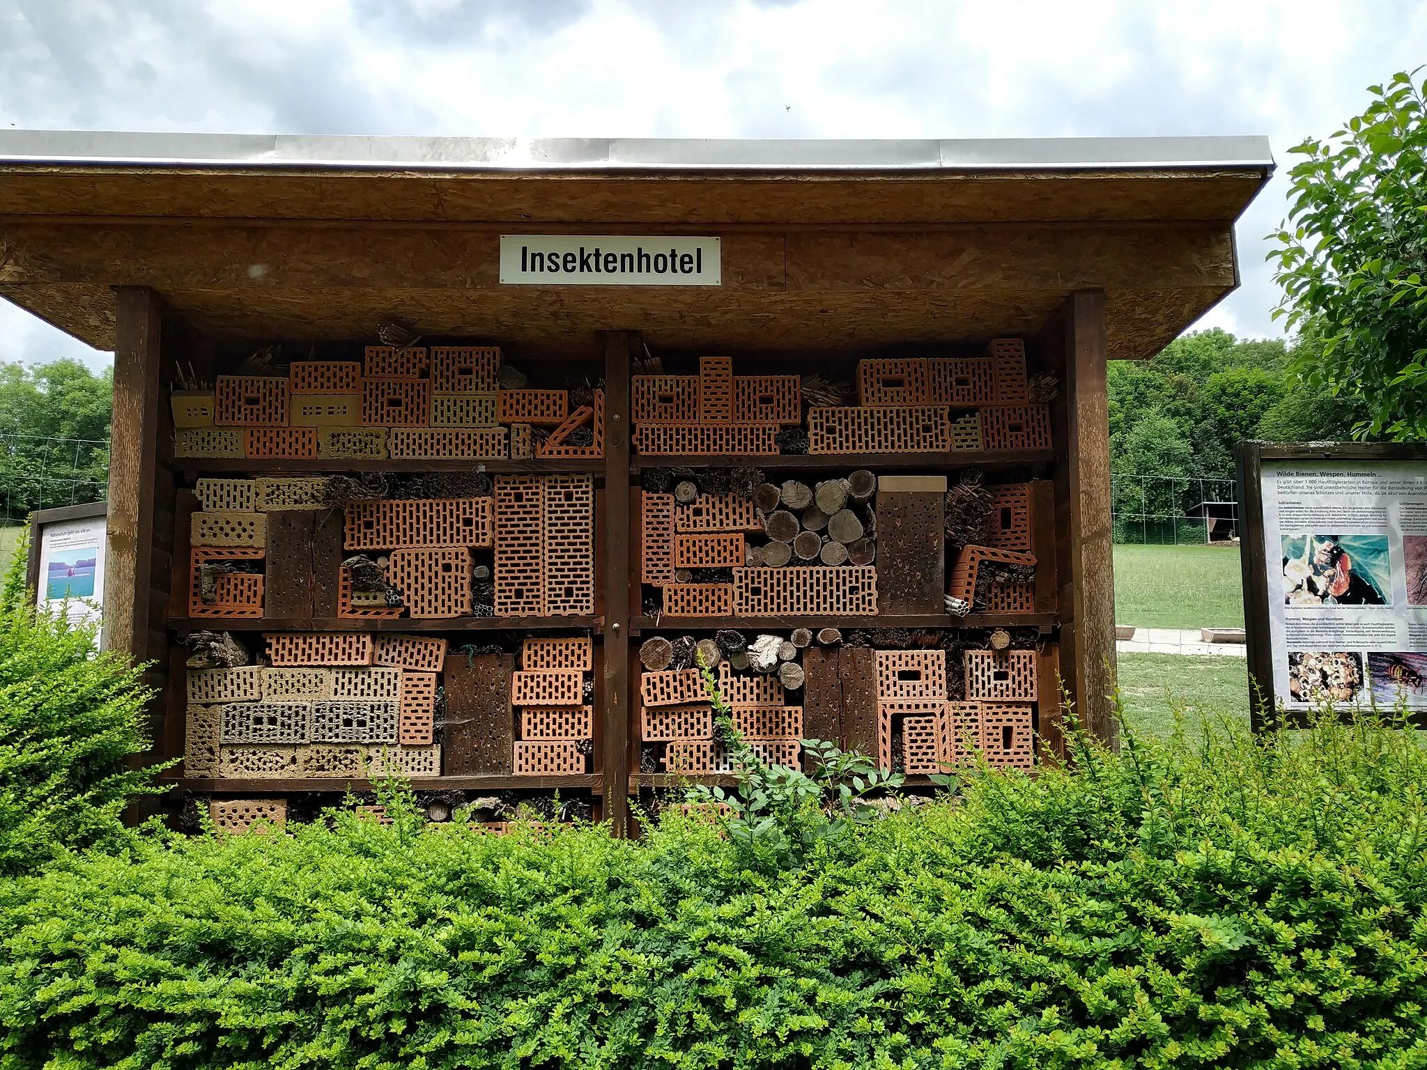
[[[174,394],[174,455],[497,459],[512,457],[515,428],[529,442],[535,425],[552,428],[539,457],[604,457],[601,391],[569,412],[565,391],[499,389],[499,367],[495,347],[368,345],[361,362],[220,375],[213,391]],[[585,427],[588,444],[571,444]]]

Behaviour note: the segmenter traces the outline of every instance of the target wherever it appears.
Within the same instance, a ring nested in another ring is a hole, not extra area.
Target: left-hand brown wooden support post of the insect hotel
[[[163,302],[146,287],[114,288],[114,417],[108,461],[101,646],[136,662],[150,649],[154,467]]]

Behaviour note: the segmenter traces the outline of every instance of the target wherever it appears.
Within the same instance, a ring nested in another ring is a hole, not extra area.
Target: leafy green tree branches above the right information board
[[[1414,71],[1416,74],[1416,71]],[[1269,254],[1276,315],[1323,340],[1296,370],[1333,394],[1360,391],[1360,434],[1427,438],[1427,83],[1370,86],[1361,116],[1290,151],[1289,220]]]

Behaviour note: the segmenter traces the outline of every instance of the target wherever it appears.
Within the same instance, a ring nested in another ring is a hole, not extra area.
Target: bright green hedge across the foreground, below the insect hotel
[[[344,813],[66,860],[0,887],[0,1066],[1427,1064],[1407,733],[1079,760],[793,872],[684,817]]]

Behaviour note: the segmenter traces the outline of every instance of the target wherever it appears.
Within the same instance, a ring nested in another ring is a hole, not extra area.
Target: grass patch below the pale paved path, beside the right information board
[[[1243,658],[1122,653],[1120,702],[1139,732],[1167,736],[1174,706],[1190,725],[1229,718],[1249,723],[1249,665]]]

